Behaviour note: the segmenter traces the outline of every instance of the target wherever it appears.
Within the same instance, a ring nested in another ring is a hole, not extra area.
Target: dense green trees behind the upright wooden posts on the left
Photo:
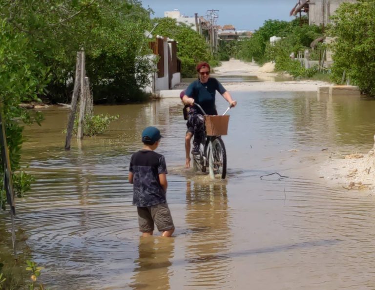
[[[17,5],[0,0],[1,19],[17,34],[23,32],[29,51],[36,52],[35,62],[27,65],[50,68],[48,98],[61,103],[70,100],[76,52],[82,47],[95,97],[124,102],[133,88],[146,86],[152,64],[140,57],[149,54],[144,31],[151,25],[150,13],[139,0],[20,1]]]

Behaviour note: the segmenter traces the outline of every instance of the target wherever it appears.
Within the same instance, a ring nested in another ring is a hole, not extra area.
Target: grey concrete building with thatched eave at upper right
[[[290,16],[307,13],[309,25],[326,26],[330,23],[330,17],[343,2],[354,3],[356,0],[298,0],[292,8]]]

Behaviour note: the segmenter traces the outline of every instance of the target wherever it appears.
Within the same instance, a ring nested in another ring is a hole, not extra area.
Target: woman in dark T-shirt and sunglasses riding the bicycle
[[[198,80],[189,84],[182,97],[185,105],[190,105],[187,113],[188,128],[186,134],[186,167],[190,167],[190,139],[194,135],[192,154],[199,154],[199,145],[205,137],[205,123],[203,112],[194,104],[199,104],[208,115],[217,115],[215,105],[215,94],[218,91],[224,99],[229,103],[230,107],[234,107],[237,102],[233,101],[230,93],[215,78],[210,78],[210,66],[207,62],[200,62],[196,70],[198,72]],[[188,146],[187,146],[188,143]]]

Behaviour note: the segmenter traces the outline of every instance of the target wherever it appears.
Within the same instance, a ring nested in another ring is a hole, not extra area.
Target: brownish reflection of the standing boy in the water
[[[174,255],[174,238],[140,238],[139,257],[134,261],[132,289],[169,290],[169,279],[173,275],[171,259]]]

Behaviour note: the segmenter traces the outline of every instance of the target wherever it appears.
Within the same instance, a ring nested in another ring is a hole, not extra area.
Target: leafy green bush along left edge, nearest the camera
[[[21,102],[40,101],[48,82],[49,70],[38,61],[27,35],[0,21],[0,110],[5,123],[14,190],[21,197],[30,188],[32,177],[21,170],[21,146],[23,125],[42,122],[40,112],[21,108]],[[4,168],[0,166],[0,175]],[[3,186],[0,179],[0,188]],[[5,209],[5,192],[0,194],[0,206]]]

